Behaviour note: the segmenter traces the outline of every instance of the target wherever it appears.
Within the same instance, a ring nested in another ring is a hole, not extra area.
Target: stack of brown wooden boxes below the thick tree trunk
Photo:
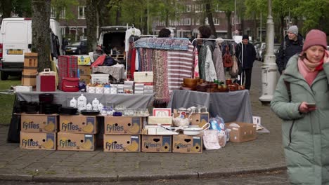
[[[22,85],[32,86],[37,85],[38,74],[38,53],[24,54],[24,69],[22,71]]]

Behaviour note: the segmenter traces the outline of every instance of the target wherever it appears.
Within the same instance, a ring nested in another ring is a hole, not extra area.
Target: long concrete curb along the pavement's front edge
[[[200,172],[183,172],[183,173],[167,173],[167,174],[117,174],[117,175],[21,175],[21,174],[0,174],[1,180],[6,181],[35,181],[35,182],[115,182],[115,181],[155,181],[160,179],[203,179],[214,177],[228,177],[239,174],[257,174],[264,172],[285,171],[286,166],[283,163],[273,164],[267,167],[235,167],[228,169],[219,169],[216,171],[200,171]]]

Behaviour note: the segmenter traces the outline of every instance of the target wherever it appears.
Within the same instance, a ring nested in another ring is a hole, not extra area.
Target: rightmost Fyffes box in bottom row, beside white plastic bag
[[[174,153],[202,153],[202,136],[173,135],[172,152]]]

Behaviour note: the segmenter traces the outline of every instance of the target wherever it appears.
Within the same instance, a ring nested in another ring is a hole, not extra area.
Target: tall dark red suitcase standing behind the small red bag
[[[63,78],[77,77],[77,56],[63,55],[58,57],[58,89],[62,90]]]

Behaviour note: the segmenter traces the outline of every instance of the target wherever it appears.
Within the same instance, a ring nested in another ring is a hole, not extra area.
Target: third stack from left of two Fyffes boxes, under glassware
[[[104,151],[141,151],[142,128],[143,118],[140,116],[105,116],[103,135]]]

